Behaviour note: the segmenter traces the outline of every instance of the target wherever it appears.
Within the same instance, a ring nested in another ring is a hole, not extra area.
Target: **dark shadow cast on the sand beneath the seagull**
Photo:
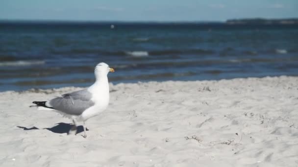
[[[66,123],[58,123],[56,126],[53,127],[48,127],[48,128],[43,128],[43,129],[47,129],[50,130],[53,133],[68,133],[69,130],[72,128],[73,124],[66,124]],[[25,127],[25,126],[17,126],[23,130],[39,130],[39,128],[33,126],[33,127]],[[76,134],[83,132],[84,128],[82,125],[79,125],[76,127]],[[86,130],[88,131],[89,129],[86,128]]]

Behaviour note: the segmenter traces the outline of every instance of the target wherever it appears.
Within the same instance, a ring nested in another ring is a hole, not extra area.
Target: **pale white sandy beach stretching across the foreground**
[[[28,107],[79,89],[0,92],[0,166],[298,167],[298,77],[111,85],[86,139]]]

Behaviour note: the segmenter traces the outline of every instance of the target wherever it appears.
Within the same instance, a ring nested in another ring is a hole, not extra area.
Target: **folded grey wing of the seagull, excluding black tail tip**
[[[87,90],[79,90],[50,100],[50,105],[59,111],[70,115],[80,115],[94,105],[92,94]]]

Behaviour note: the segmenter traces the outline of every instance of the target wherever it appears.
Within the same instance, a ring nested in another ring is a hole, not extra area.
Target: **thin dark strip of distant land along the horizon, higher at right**
[[[75,21],[75,20],[0,20],[0,23],[157,23],[157,24],[175,24],[175,23],[222,23],[222,24],[298,24],[298,18],[290,19],[264,19],[264,18],[246,18],[246,19],[228,19],[226,21]]]

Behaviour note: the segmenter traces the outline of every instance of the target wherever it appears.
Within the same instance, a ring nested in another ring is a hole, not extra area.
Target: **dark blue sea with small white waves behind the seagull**
[[[0,91],[298,76],[298,25],[0,21]]]

